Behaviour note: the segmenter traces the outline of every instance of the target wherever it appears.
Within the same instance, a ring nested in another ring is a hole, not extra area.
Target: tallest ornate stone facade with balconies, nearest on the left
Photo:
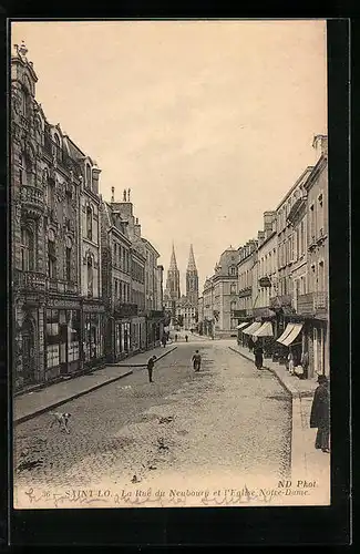
[[[100,170],[59,124],[47,121],[35,100],[38,76],[27,53],[22,44],[11,55],[10,209],[17,390],[104,360]],[[95,240],[86,238],[86,206],[92,209]],[[88,273],[90,259],[92,273]]]

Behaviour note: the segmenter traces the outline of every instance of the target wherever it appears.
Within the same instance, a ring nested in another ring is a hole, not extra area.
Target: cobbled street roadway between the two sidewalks
[[[199,373],[191,365],[195,349]],[[291,402],[274,375],[257,371],[227,341],[189,337],[155,365],[153,378],[148,383],[146,369],[133,368],[64,403],[70,434],[49,430],[49,413],[16,425],[16,503],[29,486],[240,486],[289,476]]]

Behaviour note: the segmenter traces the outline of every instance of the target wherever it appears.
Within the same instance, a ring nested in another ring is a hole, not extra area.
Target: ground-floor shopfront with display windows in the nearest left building
[[[44,297],[17,300],[14,388],[27,389],[104,362],[105,316],[99,304]]]

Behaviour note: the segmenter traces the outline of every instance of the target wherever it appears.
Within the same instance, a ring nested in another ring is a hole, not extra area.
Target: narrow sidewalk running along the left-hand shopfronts
[[[66,379],[55,384],[49,384],[43,389],[31,391],[13,399],[13,423],[19,424],[32,419],[49,410],[54,410],[61,404],[88,394],[93,390],[110,384],[123,377],[133,373],[132,368],[144,367],[151,356],[156,356],[157,360],[171,353],[176,347],[154,348],[146,352],[138,353],[130,358],[125,365],[106,366],[102,369],[94,369],[91,373],[73,379]]]

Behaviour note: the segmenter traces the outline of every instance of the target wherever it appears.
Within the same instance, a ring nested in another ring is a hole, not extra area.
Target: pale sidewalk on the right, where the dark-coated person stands
[[[237,343],[229,349],[254,362],[254,355]],[[321,483],[321,496],[330,502],[330,455],[315,449],[316,429],[310,429],[310,411],[315,379],[298,379],[290,376],[285,366],[265,358],[264,367],[271,371],[292,399],[291,474],[292,480]],[[320,495],[320,491],[319,491]]]

